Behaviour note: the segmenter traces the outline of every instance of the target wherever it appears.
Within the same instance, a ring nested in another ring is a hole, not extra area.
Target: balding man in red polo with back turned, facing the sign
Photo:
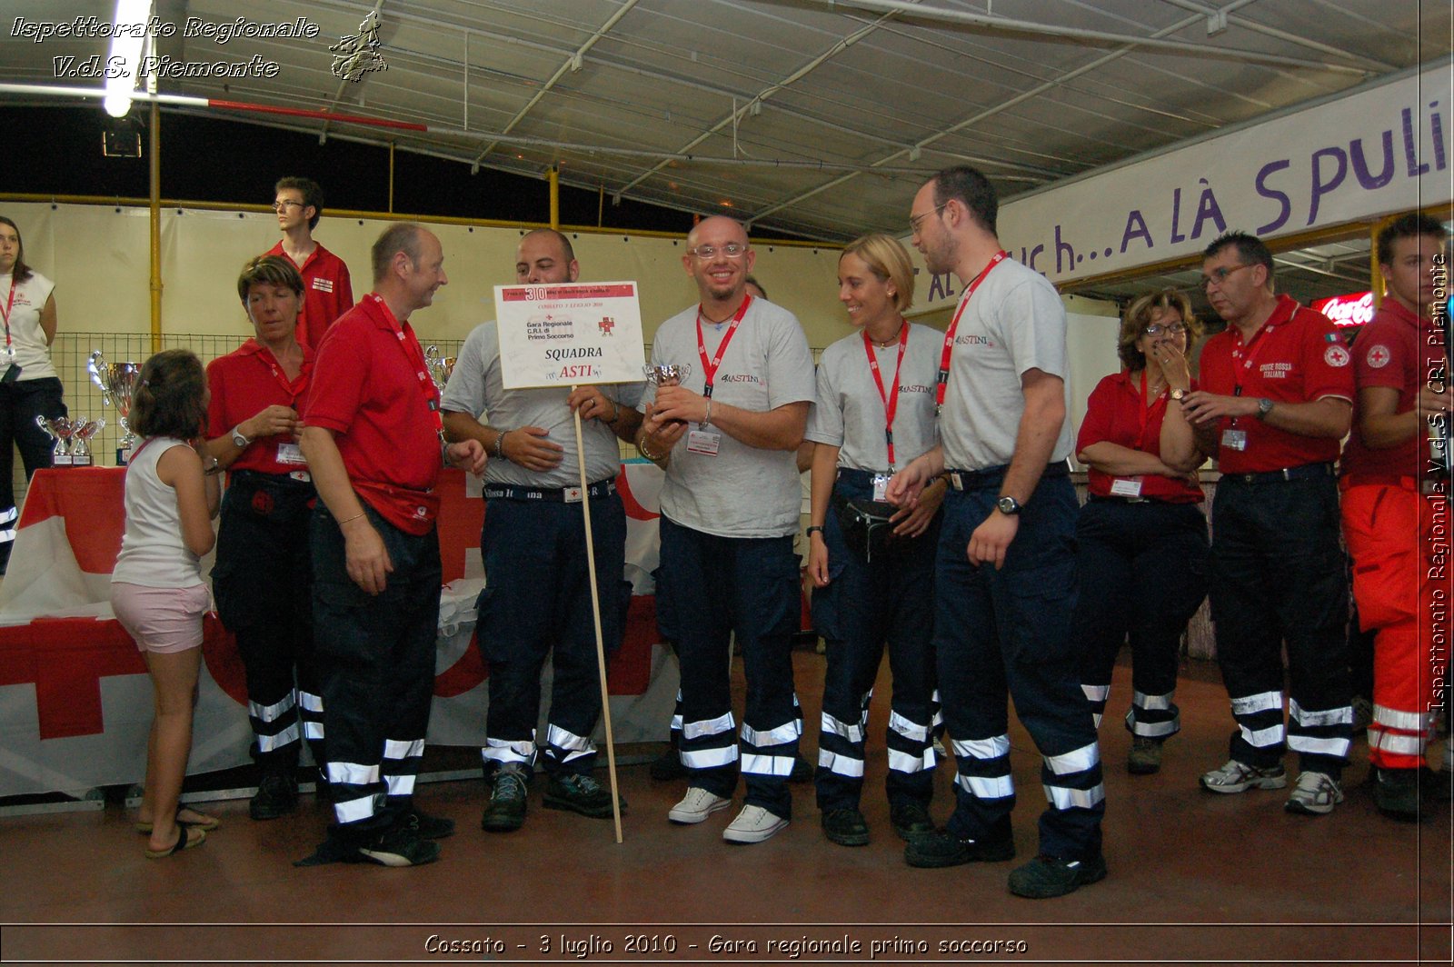
[[[409,316],[448,279],[439,238],[413,222],[374,243],[374,291],[329,332],[302,416],[323,499],[310,522],[313,618],[329,788],[329,840],[304,859],[410,867],[454,823],[413,806],[439,622],[433,491],[443,460],[480,474],[484,448],[442,445],[439,390]]]

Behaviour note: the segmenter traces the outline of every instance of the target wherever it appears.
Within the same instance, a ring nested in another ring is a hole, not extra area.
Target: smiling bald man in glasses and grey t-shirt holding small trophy
[[[648,371],[678,369],[648,381],[637,442],[666,467],[657,606],[675,625],[689,784],[667,819],[701,823],[731,806],[740,762],[746,804],[723,839],[756,843],[788,824],[787,781],[803,734],[791,654],[800,609],[794,454],[814,396],[813,355],[791,313],[747,294],[756,256],[739,222],[707,218],[686,246],[682,263],[701,301],[653,339]],[[740,752],[733,633],[747,679]]]

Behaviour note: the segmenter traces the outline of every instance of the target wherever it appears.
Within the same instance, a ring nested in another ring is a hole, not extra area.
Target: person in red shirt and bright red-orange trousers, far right
[[[1445,332],[1434,317],[1448,291],[1447,238],[1437,218],[1416,212],[1378,233],[1387,294],[1354,348],[1357,419],[1341,480],[1358,618],[1375,635],[1374,803],[1403,820],[1419,817],[1421,791],[1450,793],[1448,775],[1426,775],[1421,788],[1419,774],[1448,669],[1448,635],[1435,635],[1435,624],[1450,579],[1435,547],[1438,528],[1448,544],[1450,480],[1431,448],[1432,436],[1447,439],[1450,412]]]

